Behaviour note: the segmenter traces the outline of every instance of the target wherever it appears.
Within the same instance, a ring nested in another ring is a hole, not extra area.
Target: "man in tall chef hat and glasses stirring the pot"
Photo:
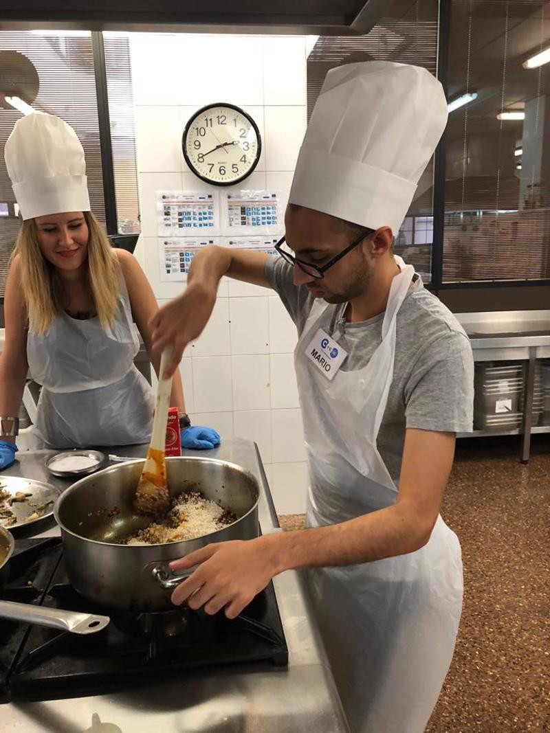
[[[420,733],[452,658],[462,604],[458,539],[439,516],[455,433],[472,429],[461,326],[392,254],[447,103],[425,69],[331,70],[298,157],[282,257],[211,247],[153,320],[153,344],[204,328],[221,276],[272,287],[298,329],[309,464],[307,529],[208,545],[175,603],[237,615],[274,575],[308,568],[351,729]]]

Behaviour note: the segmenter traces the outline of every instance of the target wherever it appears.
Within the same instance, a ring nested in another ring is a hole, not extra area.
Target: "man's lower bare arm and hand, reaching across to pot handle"
[[[171,563],[199,565],[172,594],[208,614],[234,618],[283,570],[349,565],[414,552],[428,542],[452,468],[455,434],[407,430],[397,501],[326,527],[268,534],[247,542],[219,542]]]

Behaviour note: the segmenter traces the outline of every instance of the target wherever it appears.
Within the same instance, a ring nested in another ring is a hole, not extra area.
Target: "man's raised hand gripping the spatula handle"
[[[215,288],[190,283],[183,295],[166,303],[151,319],[153,351],[160,353],[164,347],[172,347],[172,356],[162,375],[166,379],[174,374],[188,343],[202,334],[215,303]]]

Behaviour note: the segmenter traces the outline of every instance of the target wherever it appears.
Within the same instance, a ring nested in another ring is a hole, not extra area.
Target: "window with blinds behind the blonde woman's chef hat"
[[[120,234],[139,232],[136,151],[133,133],[128,37],[105,39],[111,145]],[[92,211],[105,224],[103,175],[89,32],[0,32],[0,67],[23,106],[0,103],[0,297],[21,218],[4,162],[4,145],[24,105],[56,114],[71,125],[84,147]],[[1,100],[0,100],[1,101]],[[7,213],[6,213],[7,207]]]

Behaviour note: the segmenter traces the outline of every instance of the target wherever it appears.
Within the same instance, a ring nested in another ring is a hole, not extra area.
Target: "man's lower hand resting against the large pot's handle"
[[[211,615],[225,608],[227,618],[234,619],[279,572],[276,537],[217,542],[172,561],[172,570],[199,565],[172,593],[172,603],[180,605],[187,600],[189,608],[204,606]]]

